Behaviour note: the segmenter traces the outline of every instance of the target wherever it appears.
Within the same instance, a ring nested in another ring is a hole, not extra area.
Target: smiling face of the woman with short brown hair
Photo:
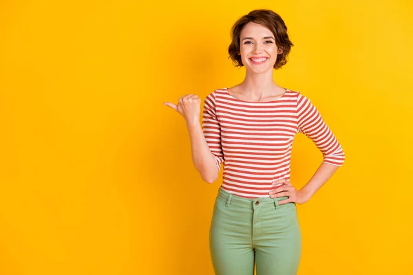
[[[282,49],[275,45],[271,30],[264,25],[249,22],[240,34],[240,54],[246,69],[260,74],[273,70],[277,54],[282,54]]]

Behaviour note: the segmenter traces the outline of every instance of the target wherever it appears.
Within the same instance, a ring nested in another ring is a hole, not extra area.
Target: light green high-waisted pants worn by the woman
[[[287,197],[246,199],[220,187],[213,208],[209,246],[216,275],[296,275],[301,230]]]

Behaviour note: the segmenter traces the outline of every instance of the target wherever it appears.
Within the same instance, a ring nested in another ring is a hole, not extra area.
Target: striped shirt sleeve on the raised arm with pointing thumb
[[[221,164],[224,162],[224,153],[221,146],[221,126],[215,113],[215,91],[207,96],[204,100],[202,111],[202,131],[211,153],[215,157],[218,169],[221,170]]]

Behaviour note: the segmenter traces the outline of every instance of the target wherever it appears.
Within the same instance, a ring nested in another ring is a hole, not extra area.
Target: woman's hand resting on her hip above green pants
[[[270,197],[285,197],[287,196],[288,199],[283,199],[282,201],[278,201],[278,204],[284,204],[289,202],[295,202],[298,204],[306,203],[310,198],[304,191],[297,190],[290,183],[290,181],[286,179],[278,179],[273,181],[273,185],[284,184],[283,186],[276,187],[275,189],[270,191]]]

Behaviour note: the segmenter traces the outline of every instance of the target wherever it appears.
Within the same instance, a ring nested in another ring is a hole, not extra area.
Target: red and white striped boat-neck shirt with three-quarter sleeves
[[[324,163],[341,166],[341,144],[317,108],[298,91],[269,102],[248,102],[216,89],[204,100],[202,129],[218,168],[222,188],[246,198],[269,197],[275,179],[290,180],[290,157],[297,133],[309,137]]]

